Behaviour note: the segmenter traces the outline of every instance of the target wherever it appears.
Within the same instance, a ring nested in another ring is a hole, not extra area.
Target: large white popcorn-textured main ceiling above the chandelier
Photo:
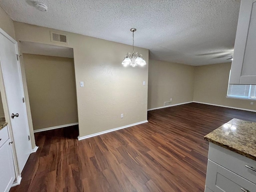
[[[148,48],[150,58],[189,65],[232,55],[240,0],[0,0],[12,20]],[[130,50],[127,50],[130,51]],[[123,56],[120,56],[123,57]],[[229,60],[228,60],[229,61]]]

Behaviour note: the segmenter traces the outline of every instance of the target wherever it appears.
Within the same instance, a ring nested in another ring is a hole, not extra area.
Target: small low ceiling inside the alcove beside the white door
[[[22,53],[28,54],[74,58],[74,52],[72,48],[42,43],[21,41],[20,51]]]

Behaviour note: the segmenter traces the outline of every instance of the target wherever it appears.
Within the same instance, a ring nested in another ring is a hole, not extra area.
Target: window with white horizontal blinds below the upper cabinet
[[[256,85],[228,85],[228,97],[256,100]]]

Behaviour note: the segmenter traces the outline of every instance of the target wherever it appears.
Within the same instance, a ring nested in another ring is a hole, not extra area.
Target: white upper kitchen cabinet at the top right
[[[229,84],[256,84],[256,0],[242,0]]]

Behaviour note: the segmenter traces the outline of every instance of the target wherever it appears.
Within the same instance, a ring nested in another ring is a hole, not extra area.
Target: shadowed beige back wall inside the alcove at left
[[[23,54],[34,130],[78,122],[74,59]]]

